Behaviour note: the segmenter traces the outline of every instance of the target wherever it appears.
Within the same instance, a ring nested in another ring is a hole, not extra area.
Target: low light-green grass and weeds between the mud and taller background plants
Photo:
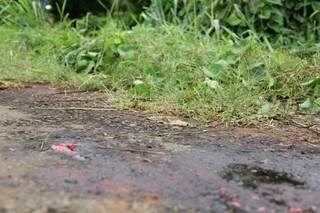
[[[0,27],[0,79],[98,89],[115,104],[228,124],[319,112],[319,59],[174,25],[125,30],[108,20],[90,35],[65,24]]]

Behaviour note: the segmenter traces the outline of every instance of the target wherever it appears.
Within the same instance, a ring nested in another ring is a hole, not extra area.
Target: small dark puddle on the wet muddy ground
[[[287,184],[295,188],[301,188],[305,185],[304,182],[297,180],[289,173],[246,164],[231,164],[223,170],[221,176],[228,182],[237,182],[250,189],[256,189],[260,184]]]

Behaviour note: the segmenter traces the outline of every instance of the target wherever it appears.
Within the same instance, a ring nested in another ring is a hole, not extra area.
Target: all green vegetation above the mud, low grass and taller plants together
[[[56,22],[33,1],[4,0],[0,79],[104,90],[116,104],[229,124],[320,112],[320,4],[252,2],[112,4],[77,20],[62,5]]]

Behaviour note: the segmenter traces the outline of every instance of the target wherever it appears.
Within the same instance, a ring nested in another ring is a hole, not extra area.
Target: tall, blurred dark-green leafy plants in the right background
[[[160,25],[175,23],[206,34],[255,33],[280,44],[318,42],[318,0],[152,0],[143,17]]]

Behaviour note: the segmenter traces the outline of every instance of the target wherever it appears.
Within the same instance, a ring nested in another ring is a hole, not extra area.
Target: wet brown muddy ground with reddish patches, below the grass
[[[315,132],[156,117],[98,93],[0,91],[0,213],[320,212]]]

